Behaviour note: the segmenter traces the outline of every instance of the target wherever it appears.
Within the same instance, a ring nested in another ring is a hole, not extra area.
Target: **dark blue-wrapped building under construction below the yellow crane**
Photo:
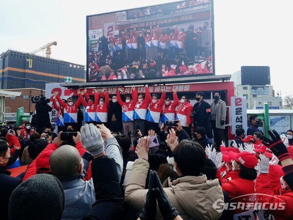
[[[84,83],[84,66],[13,50],[0,55],[0,89],[44,89],[46,83],[64,83],[66,77]]]

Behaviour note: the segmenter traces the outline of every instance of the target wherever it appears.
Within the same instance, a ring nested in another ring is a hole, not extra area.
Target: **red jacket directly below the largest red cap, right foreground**
[[[236,178],[226,183],[222,184],[222,190],[225,191],[229,198],[232,199],[231,202],[255,202],[254,195],[254,181]],[[248,196],[244,196],[248,195]],[[240,197],[241,196],[241,197]],[[236,198],[239,197],[239,198]],[[235,198],[235,199],[233,199]],[[254,199],[254,200],[253,200]],[[243,213],[248,210],[244,210],[242,208],[234,210],[235,214]]]

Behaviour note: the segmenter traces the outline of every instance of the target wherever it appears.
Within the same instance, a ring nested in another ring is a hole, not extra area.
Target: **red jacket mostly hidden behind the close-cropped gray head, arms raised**
[[[78,142],[75,145],[75,147],[79,151],[81,156],[83,156],[84,152],[86,152],[86,150],[82,146],[82,142]],[[45,151],[48,151],[48,150],[55,151],[57,148],[58,148],[57,144],[54,144],[54,143],[48,144],[47,147],[42,151],[42,153]],[[25,175],[22,179],[22,182],[24,182],[26,179],[28,179],[36,174],[37,174],[37,166],[36,166],[36,159],[35,159],[30,165],[28,165],[28,167],[25,171]],[[91,176],[92,176],[92,173],[91,173],[91,163],[90,163],[88,166],[88,170],[86,172],[86,175],[84,176],[84,180],[89,180],[91,178]]]

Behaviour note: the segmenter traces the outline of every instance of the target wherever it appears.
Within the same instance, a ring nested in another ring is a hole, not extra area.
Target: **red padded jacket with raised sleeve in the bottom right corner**
[[[291,190],[281,190],[281,194],[276,195],[272,191],[269,176],[267,174],[260,174],[256,178],[255,192],[257,193],[258,202],[265,201],[263,206],[267,209],[266,212],[273,215],[275,220],[293,219],[293,192]],[[277,207],[280,207],[280,203],[285,206],[284,210],[279,208],[270,209],[270,205],[274,207],[275,204],[278,204]]]

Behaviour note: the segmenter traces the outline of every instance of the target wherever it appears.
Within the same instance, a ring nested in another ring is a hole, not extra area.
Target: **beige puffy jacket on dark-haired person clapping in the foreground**
[[[141,211],[146,202],[146,176],[149,163],[145,159],[136,159],[126,184],[125,200]],[[170,203],[177,209],[183,220],[217,220],[222,212],[216,211],[212,204],[218,199],[224,202],[219,180],[207,180],[207,176],[183,176],[173,181],[169,178],[163,184]],[[165,188],[167,187],[167,188]],[[221,202],[218,200],[217,202]],[[157,207],[156,220],[162,220]]]

